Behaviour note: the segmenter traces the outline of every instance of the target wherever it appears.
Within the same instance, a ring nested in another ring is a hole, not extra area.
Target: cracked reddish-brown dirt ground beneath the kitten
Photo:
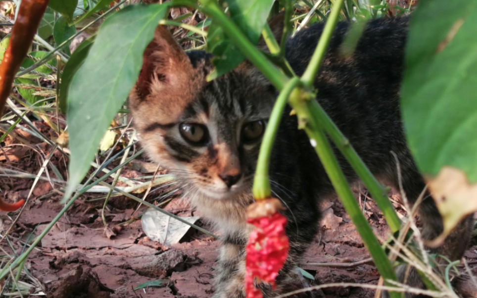
[[[48,130],[42,123],[37,124],[40,130]],[[33,143],[32,136],[19,130],[15,130],[15,134],[21,135],[24,142],[30,140]],[[37,173],[43,162],[39,156],[48,154],[51,146],[17,146],[15,142],[18,139],[14,141],[10,138],[2,144],[2,167]],[[66,163],[61,153],[55,152],[51,162],[66,175]],[[47,172],[51,178],[56,177],[52,171]],[[133,166],[128,166],[125,173],[128,176],[141,175]],[[32,179],[0,177],[1,195],[8,201],[26,198],[32,183]],[[59,189],[57,184],[39,182],[10,233],[10,244],[3,241],[1,248],[8,253],[13,250],[19,253],[29,236],[39,235],[45,229],[62,208]],[[212,295],[218,241],[195,231],[172,247],[150,241],[142,231],[140,219],[129,225],[119,225],[136,218],[144,210],[140,208],[139,212],[134,212],[136,203],[124,197],[113,198],[109,202],[109,210],[106,211],[109,229],[105,232],[100,216],[103,200],[93,199],[93,195],[88,195],[75,202],[74,207],[48,232],[38,249],[27,259],[25,267],[40,282],[32,292],[43,290],[48,298],[193,298]],[[359,196],[359,202],[376,233],[386,239],[384,220],[375,203],[364,195]],[[179,215],[194,213],[180,199],[172,200],[166,209]],[[364,260],[369,254],[338,201],[325,202],[323,209],[322,233],[307,251],[301,267],[322,284],[377,284],[379,274],[373,264],[349,268],[335,266],[336,263]],[[14,218],[4,213],[0,215],[2,235]],[[199,224],[206,227],[203,222]],[[477,273],[476,248],[474,246],[466,253],[466,260],[474,274]],[[317,262],[327,265],[312,264]],[[464,293],[463,297],[477,297],[469,279],[466,274],[456,278],[457,289]],[[164,286],[134,290],[143,283],[157,280],[165,280]],[[359,287],[328,288],[323,293],[329,298],[374,296],[374,291]]]

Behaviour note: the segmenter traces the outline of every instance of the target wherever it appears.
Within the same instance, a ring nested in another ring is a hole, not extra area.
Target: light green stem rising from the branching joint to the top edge
[[[302,82],[308,88],[312,88],[313,83],[315,83],[316,75],[318,74],[320,65],[323,62],[326,50],[330,45],[331,37],[333,36],[334,28],[336,28],[338,16],[341,12],[341,7],[343,7],[343,3],[344,0],[336,0],[334,2],[330,17],[325,24],[325,28],[323,28],[323,33],[318,45],[316,46],[316,50],[313,52],[310,62],[308,63],[305,72],[301,76]]]

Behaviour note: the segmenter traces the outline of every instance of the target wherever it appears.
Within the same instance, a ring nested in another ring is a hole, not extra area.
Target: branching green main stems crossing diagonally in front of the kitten
[[[286,85],[286,81],[288,80],[286,76],[282,72],[278,71],[276,67],[271,65],[269,61],[265,60],[264,55],[253,47],[253,45],[247,40],[247,38],[240,32],[237,26],[235,26],[235,24],[230,19],[228,19],[227,16],[222,12],[222,10],[215,1],[201,0],[200,2],[203,4],[203,7],[201,9],[205,12],[205,14],[212,17],[214,21],[216,21],[223,28],[223,30],[229,36],[231,41],[238,47],[238,49],[241,50],[243,54],[245,54],[245,56],[271,81],[271,83],[278,90],[283,90]],[[318,43],[317,48],[311,58],[311,62],[309,63],[304,75],[301,78],[301,81],[306,84],[309,90],[313,89],[313,84],[316,80],[319,66],[325,56],[326,50],[330,43],[342,5],[343,0],[336,0],[334,2],[334,7],[332,9],[332,13],[330,14],[330,18],[325,25],[322,38],[320,39],[320,42]],[[356,225],[358,232],[363,238],[365,245],[368,247],[376,263],[376,266],[378,267],[383,278],[385,280],[396,280],[396,276],[391,267],[391,264],[387,259],[386,254],[382,250],[378,240],[373,234],[371,227],[361,213],[359,205],[357,204],[351,190],[349,189],[346,178],[344,177],[334,157],[334,153],[328,143],[328,139],[326,138],[322,127],[320,127],[319,125],[320,123],[328,123],[327,119],[329,118],[325,117],[323,119],[323,117],[317,117],[320,119],[317,120],[311,114],[311,111],[307,106],[308,103],[312,102],[312,104],[317,104],[317,101],[315,100],[315,95],[312,92],[308,91],[305,93],[300,93],[298,89],[294,90],[295,91],[293,91],[293,93],[296,93],[294,97],[295,99],[290,98],[289,103],[297,112],[298,118],[299,120],[301,120],[302,127],[304,127],[308,135],[319,144],[319,146],[315,147],[315,149],[320,156],[320,159],[325,166],[325,169],[327,170],[330,179],[332,180],[337,194],[342,199],[346,211],[350,214],[353,223]],[[319,105],[317,106],[321,109]],[[354,164],[359,168],[359,171],[357,172],[364,175],[360,175],[360,177],[363,180],[368,181],[368,183],[370,181],[375,182],[375,179],[372,177],[371,173],[366,168],[364,163],[362,163],[361,159],[358,157],[354,149],[352,149],[351,146],[347,144],[346,139],[334,126],[334,123],[331,120],[328,124],[330,123],[332,124],[332,126],[323,125],[323,128],[327,128],[329,130],[326,132],[329,133],[332,137],[332,140],[337,143],[338,148],[343,149],[345,157],[347,159],[351,159],[350,163]],[[336,132],[339,132],[339,134],[336,134]],[[333,135],[331,133],[333,133]],[[366,177],[366,175],[368,177]],[[374,188],[372,187],[373,192],[376,192],[376,189],[378,189],[379,193],[382,194],[383,192],[381,186],[377,183],[376,185]],[[393,224],[393,227],[395,227],[395,224]],[[393,298],[399,297],[396,293],[392,292],[390,293],[390,295]]]

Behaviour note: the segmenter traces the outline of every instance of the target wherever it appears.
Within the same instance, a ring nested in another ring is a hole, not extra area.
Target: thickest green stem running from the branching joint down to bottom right
[[[298,89],[295,89],[290,95],[289,102],[298,116],[299,126],[305,130],[311,140],[316,142],[317,146],[314,146],[315,151],[382,277],[384,280],[396,280],[396,274],[394,273],[391,263],[382,249],[381,244],[376,239],[371,226],[361,212],[359,204],[356,202],[346,177],[341,171],[336,157],[334,156],[330,143],[315,117],[311,114],[310,109],[306,104],[307,101],[315,100],[310,99],[309,94],[300,92]],[[391,297],[399,297],[397,293],[389,294]]]

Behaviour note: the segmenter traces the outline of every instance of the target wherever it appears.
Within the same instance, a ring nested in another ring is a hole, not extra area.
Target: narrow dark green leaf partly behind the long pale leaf
[[[71,83],[73,75],[76,73],[78,68],[83,65],[83,62],[88,55],[91,46],[93,45],[95,37],[91,37],[84,42],[82,42],[78,48],[73,52],[71,57],[66,62],[63,72],[61,73],[61,80],[59,83],[59,96],[58,96],[58,105],[60,110],[63,113],[66,113],[66,99],[68,98],[68,88]]]

